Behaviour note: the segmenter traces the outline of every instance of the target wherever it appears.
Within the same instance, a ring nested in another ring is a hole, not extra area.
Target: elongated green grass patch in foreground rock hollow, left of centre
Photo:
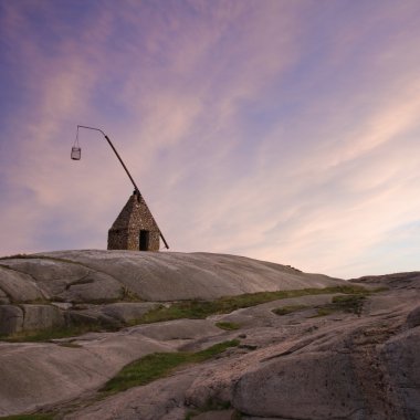
[[[147,385],[156,379],[167,377],[177,367],[187,364],[197,364],[208,360],[229,347],[239,345],[238,339],[216,344],[201,351],[154,353],[141,357],[125,366],[117,376],[111,379],[101,389],[108,393],[125,391],[126,389]]]

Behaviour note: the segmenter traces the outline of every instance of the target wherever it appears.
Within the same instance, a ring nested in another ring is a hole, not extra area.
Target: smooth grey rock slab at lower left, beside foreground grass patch
[[[96,334],[62,344],[0,343],[0,416],[31,411],[95,389],[129,361],[172,347],[140,335]]]

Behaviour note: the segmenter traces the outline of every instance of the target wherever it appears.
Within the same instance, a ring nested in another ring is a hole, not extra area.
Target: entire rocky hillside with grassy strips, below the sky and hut
[[[419,419],[419,288],[209,253],[3,258],[0,416]],[[135,360],[161,371],[118,376]]]

